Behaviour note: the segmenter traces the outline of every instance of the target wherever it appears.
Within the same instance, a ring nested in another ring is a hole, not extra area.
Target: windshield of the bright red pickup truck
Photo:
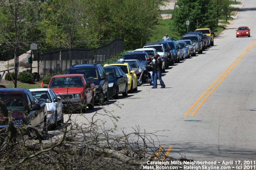
[[[80,76],[65,76],[55,77],[51,79],[49,88],[62,88],[62,87],[84,87],[82,77]]]

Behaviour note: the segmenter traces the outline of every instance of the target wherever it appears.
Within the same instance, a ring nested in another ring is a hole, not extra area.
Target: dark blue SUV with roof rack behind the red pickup
[[[66,74],[84,74],[88,82],[96,87],[96,99],[98,103],[108,101],[108,80],[103,67],[98,63],[77,63],[69,67]]]

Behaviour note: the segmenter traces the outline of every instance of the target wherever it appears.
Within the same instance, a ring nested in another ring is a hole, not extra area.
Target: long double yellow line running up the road
[[[203,105],[203,103],[207,100],[207,98],[212,94],[212,92],[220,85],[220,83],[226,78],[226,76],[230,73],[230,71],[233,70],[233,68],[241,61],[241,59],[244,57],[244,55],[251,50],[253,45],[255,44],[256,40],[254,40],[243,52],[240,54],[240,56],[212,83],[212,85],[197,99],[197,101],[189,108],[189,110],[184,114],[184,116],[187,116],[197,105],[197,103],[207,94],[210,89],[212,89],[208,95],[201,101],[201,103],[197,106],[197,108],[193,111],[191,116],[194,116],[198,109]],[[231,67],[231,69],[230,69]],[[230,69],[230,70],[229,70]],[[227,72],[228,71],[228,72]],[[226,73],[227,72],[227,73]],[[226,74],[225,74],[226,73]],[[225,75],[224,75],[225,74]],[[220,80],[220,78],[222,78]],[[219,81],[220,80],[220,81]],[[219,82],[218,82],[219,81]],[[216,84],[218,82],[218,84]],[[216,84],[216,86],[214,86]],[[214,88],[212,88],[214,86]]]

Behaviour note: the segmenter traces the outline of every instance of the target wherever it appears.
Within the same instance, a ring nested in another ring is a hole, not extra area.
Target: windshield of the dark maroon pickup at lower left
[[[25,102],[22,94],[0,94],[0,100],[2,100],[7,109],[10,111],[24,111],[26,110]]]

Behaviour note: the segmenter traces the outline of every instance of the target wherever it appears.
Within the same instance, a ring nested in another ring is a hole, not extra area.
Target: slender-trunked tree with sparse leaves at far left
[[[17,52],[36,37],[32,32],[38,22],[39,1],[0,0],[0,43],[14,52],[15,87],[17,86]]]

